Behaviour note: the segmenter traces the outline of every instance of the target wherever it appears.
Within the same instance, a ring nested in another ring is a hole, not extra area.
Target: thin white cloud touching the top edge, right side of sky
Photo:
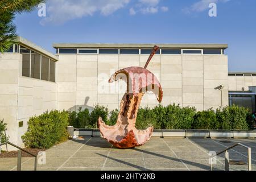
[[[229,1],[231,0],[200,0],[196,3],[193,3],[191,7],[185,8],[183,11],[185,13],[191,13],[191,11],[201,12],[201,11],[207,10],[209,8],[210,3],[218,3],[218,2],[226,3]]]

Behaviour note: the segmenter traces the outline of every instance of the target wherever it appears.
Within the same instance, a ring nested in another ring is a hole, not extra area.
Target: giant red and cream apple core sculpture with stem
[[[138,130],[135,128],[135,122],[144,93],[154,92],[159,102],[163,98],[163,90],[158,79],[146,69],[158,49],[158,46],[152,49],[144,68],[129,67],[120,69],[109,79],[109,83],[119,79],[125,80],[127,83],[126,93],[120,103],[117,123],[114,126],[108,126],[102,121],[101,117],[98,118],[98,128],[103,138],[115,147],[132,148],[142,146],[152,135],[153,127],[148,127],[146,130]]]

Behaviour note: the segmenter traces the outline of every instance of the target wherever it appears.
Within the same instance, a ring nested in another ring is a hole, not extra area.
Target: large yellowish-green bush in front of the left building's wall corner
[[[47,111],[30,118],[28,131],[22,136],[22,140],[26,147],[47,149],[68,139],[67,126],[67,111]]]

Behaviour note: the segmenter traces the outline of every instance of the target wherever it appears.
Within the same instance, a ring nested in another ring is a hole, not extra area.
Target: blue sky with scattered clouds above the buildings
[[[229,71],[256,72],[255,0],[48,0],[46,13],[15,24],[53,53],[52,43],[227,43]]]

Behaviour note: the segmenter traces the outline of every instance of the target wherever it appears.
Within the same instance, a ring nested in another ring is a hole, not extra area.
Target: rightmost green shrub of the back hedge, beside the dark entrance
[[[226,106],[217,109],[216,115],[222,130],[248,130],[250,128],[250,112],[245,107]]]

